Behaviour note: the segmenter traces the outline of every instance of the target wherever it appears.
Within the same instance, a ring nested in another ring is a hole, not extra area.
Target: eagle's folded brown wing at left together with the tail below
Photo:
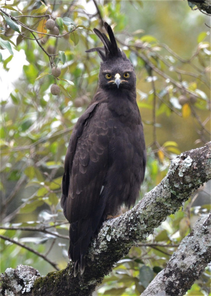
[[[81,269],[106,203],[103,184],[112,136],[108,113],[106,103],[88,107],[77,121],[65,157],[61,205],[71,223],[69,254],[76,264],[81,257]]]

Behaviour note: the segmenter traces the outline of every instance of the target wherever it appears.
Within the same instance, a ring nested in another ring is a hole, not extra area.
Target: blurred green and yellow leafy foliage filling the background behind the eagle
[[[85,50],[101,46],[92,30],[102,25],[102,19],[115,26],[119,45],[137,73],[137,103],[148,154],[140,198],[162,180],[180,151],[209,139],[211,49],[204,25],[201,32],[191,32],[194,50],[180,57],[150,29],[149,33],[139,29],[138,20],[136,31],[126,33],[127,23],[134,26],[129,16],[133,9],[140,12],[143,2],[104,2],[94,7],[94,14],[77,1],[0,4],[2,73],[6,75],[18,53],[24,51],[26,56],[19,80],[9,96],[3,93],[1,98],[0,246],[2,258],[8,258],[2,260],[1,272],[21,263],[46,274],[68,262],[69,226],[59,204],[63,162],[72,127],[97,88],[99,59]],[[183,14],[188,13],[187,7]],[[55,20],[59,36],[45,27],[49,17]],[[51,75],[52,67],[61,68],[61,75]],[[59,86],[59,96],[51,94],[52,84]],[[97,295],[140,295],[190,231],[196,214],[210,210],[206,202],[196,204],[198,197],[200,192],[146,242],[134,246],[104,279]],[[209,276],[207,268],[187,295],[209,295]]]

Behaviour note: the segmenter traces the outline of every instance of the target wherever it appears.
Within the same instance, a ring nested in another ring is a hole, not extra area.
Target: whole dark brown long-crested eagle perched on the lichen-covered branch
[[[70,223],[69,257],[85,269],[85,254],[107,218],[120,215],[139,196],[146,166],[143,126],[136,102],[133,65],[117,46],[112,28],[94,29],[104,48],[99,88],[78,119],[66,152],[61,206]]]

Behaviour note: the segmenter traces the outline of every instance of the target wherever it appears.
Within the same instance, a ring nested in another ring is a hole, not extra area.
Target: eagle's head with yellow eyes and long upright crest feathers
[[[95,47],[86,51],[96,51],[103,60],[99,73],[99,87],[102,89],[135,90],[136,75],[134,67],[126,57],[126,54],[118,48],[111,26],[104,22],[104,27],[108,32],[110,40],[106,34],[94,29],[96,35],[103,42],[104,47]]]

